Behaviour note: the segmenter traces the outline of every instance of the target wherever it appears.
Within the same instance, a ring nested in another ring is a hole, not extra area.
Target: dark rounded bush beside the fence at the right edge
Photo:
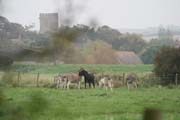
[[[163,47],[155,57],[155,73],[169,84],[168,80],[175,80],[176,74],[180,74],[180,48]],[[168,78],[168,79],[164,79]]]

